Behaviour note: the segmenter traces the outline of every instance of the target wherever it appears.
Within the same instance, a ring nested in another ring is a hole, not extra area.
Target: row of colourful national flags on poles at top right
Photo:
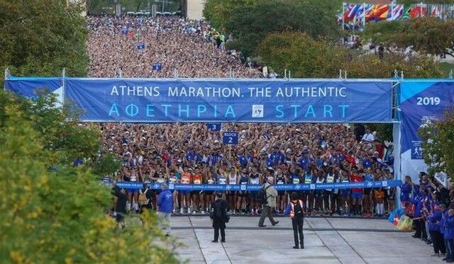
[[[453,18],[454,5],[452,4],[412,4],[405,7],[403,4],[348,4],[343,3],[342,25],[362,25],[366,22],[397,21],[409,18],[434,17]]]

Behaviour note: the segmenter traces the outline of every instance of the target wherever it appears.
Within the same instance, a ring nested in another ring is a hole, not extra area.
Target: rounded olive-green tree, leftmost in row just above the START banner
[[[260,43],[258,55],[282,76],[289,69],[295,78],[331,78],[338,76],[348,50],[307,33],[272,33]]]

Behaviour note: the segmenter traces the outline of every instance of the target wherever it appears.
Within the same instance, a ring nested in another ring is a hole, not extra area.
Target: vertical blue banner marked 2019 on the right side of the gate
[[[426,171],[419,128],[443,119],[454,106],[454,81],[404,80],[401,84],[401,163],[402,176],[418,181],[419,172]]]

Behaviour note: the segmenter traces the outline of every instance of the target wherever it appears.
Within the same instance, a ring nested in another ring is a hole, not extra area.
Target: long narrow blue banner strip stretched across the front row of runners
[[[143,183],[132,183],[127,181],[117,182],[119,188],[141,189]],[[153,190],[159,190],[161,183],[148,183]],[[380,188],[396,187],[402,185],[401,180],[364,181],[360,183],[314,183],[314,184],[277,184],[276,190],[324,190],[324,189],[351,189],[351,188]],[[260,184],[181,184],[169,183],[170,190],[251,190],[258,191],[262,188]]]

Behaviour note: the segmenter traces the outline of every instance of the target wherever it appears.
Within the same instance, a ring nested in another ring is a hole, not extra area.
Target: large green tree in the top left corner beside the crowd
[[[82,7],[61,0],[0,0],[0,67],[11,74],[85,76],[87,31]]]

